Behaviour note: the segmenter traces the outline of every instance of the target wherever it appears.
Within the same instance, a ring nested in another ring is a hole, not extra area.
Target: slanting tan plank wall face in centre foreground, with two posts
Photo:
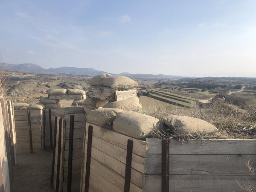
[[[124,191],[127,141],[131,139],[134,143],[131,162],[130,191],[144,192],[148,143],[90,123],[86,123],[84,169],[81,178],[81,191],[84,191],[87,133],[89,125],[93,126],[89,191]]]

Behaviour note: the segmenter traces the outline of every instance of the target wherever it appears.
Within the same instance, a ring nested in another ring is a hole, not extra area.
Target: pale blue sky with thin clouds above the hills
[[[0,61],[256,77],[256,0],[0,0]]]

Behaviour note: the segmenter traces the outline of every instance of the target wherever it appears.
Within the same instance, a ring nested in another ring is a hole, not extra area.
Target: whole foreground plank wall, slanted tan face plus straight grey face
[[[89,126],[93,128],[90,175],[86,176]],[[252,167],[256,166],[256,140],[145,142],[86,123],[81,192],[125,191],[128,140],[133,141],[130,192],[242,192],[239,184],[256,185],[255,176],[246,166],[248,159]],[[90,178],[87,182],[86,177]],[[84,190],[86,187],[89,190]]]

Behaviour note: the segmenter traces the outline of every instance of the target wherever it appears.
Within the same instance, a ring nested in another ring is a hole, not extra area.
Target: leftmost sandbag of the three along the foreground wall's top
[[[86,121],[103,128],[112,128],[116,114],[122,109],[100,108],[86,112]]]

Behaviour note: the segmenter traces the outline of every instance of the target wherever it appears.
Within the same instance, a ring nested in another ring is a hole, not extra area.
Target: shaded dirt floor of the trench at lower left
[[[14,192],[54,192],[50,187],[52,151],[18,154]]]

